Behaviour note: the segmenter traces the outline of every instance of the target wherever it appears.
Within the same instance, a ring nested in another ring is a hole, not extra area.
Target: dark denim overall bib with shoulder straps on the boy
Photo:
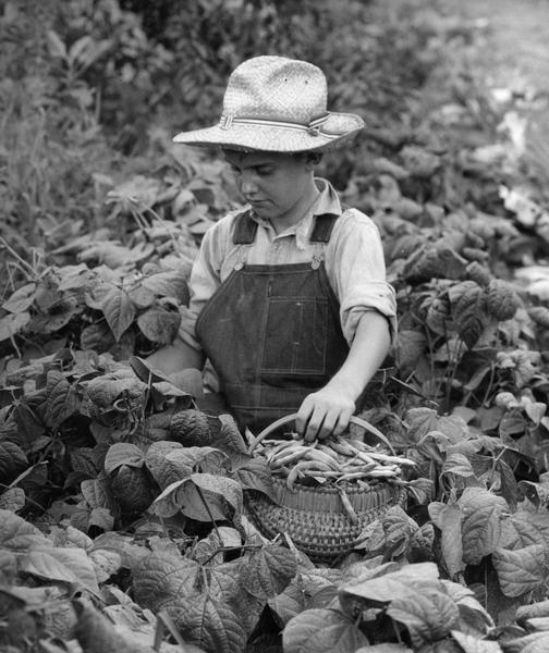
[[[310,242],[326,245],[337,219],[316,215]],[[233,243],[252,244],[257,223],[248,212],[236,221]],[[196,334],[239,426],[256,434],[295,412],[349,354],[321,254],[304,263],[241,261],[206,303]]]

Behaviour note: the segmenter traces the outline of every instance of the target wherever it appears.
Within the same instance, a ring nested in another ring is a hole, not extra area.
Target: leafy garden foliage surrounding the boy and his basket
[[[546,650],[549,218],[518,137],[537,99],[487,89],[483,30],[429,3],[188,4],[3,5],[0,650]],[[241,206],[171,135],[216,120],[256,53],[314,61],[365,116],[321,173],[375,220],[399,300],[362,416],[415,463],[406,509],[331,566],[248,519],[247,493],[272,495],[256,434],[202,410],[196,370],[143,360]]]

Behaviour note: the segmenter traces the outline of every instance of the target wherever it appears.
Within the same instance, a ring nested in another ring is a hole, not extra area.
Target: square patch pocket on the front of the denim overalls
[[[328,300],[271,297],[267,308],[261,369],[270,374],[325,374]]]

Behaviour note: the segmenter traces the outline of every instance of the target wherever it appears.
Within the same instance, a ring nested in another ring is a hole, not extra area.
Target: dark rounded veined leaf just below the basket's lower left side
[[[246,591],[267,601],[283,592],[297,571],[295,555],[278,544],[268,544],[242,560],[240,574]]]

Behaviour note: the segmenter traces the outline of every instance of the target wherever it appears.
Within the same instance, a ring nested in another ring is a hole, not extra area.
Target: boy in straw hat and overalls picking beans
[[[219,124],[174,141],[221,148],[248,209],[205,235],[166,373],[211,364],[229,409],[254,432],[297,412],[305,439],[341,434],[395,329],[378,231],[314,176],[364,126],[327,111],[315,65],[256,57],[232,73]]]

